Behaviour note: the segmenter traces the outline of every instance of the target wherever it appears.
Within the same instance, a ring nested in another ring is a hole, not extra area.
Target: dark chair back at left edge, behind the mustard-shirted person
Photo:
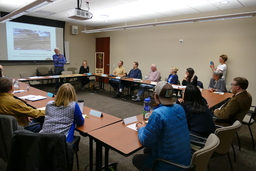
[[[0,114],[0,158],[6,163],[10,157],[12,134],[17,129],[23,129],[18,125],[15,117]]]

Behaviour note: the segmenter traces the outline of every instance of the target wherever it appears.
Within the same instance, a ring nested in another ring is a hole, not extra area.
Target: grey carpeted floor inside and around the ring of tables
[[[97,83],[95,83],[97,85]],[[78,86],[77,86],[78,88]],[[53,92],[53,86],[45,86],[44,91]],[[105,84],[105,90],[98,90],[97,92],[89,89],[77,90],[78,99],[85,101],[85,106],[92,109],[111,114],[119,118],[126,118],[134,115],[138,115],[142,112],[143,102],[132,102],[131,99],[123,101],[122,98],[112,98],[114,92],[110,91],[109,85]],[[145,93],[145,96],[148,94]],[[86,121],[85,121],[86,124]],[[255,133],[255,124],[251,126],[252,131]],[[234,138],[234,147],[236,150],[237,162],[234,163],[233,153],[230,150],[230,156],[235,171],[254,171],[256,168],[256,153],[252,149],[251,137],[248,127],[242,125],[238,131],[241,140],[241,151],[238,150],[238,143],[236,137]],[[76,135],[79,133],[76,132]],[[255,134],[254,134],[255,135]],[[256,136],[256,135],[255,135]],[[118,141],[118,137],[116,137]],[[95,145],[94,145],[95,147]],[[135,154],[142,153],[142,150]],[[134,155],[134,154],[133,154]],[[118,162],[117,170],[119,171],[136,171],[136,168],[132,165],[132,157],[124,157],[119,153],[110,150],[109,160],[110,162]],[[95,155],[94,155],[95,156]],[[81,136],[80,151],[79,151],[79,163],[80,169],[85,169],[89,164],[89,138]],[[5,170],[6,164],[0,159],[0,171]],[[230,165],[227,156],[221,156],[210,160],[209,168],[211,171],[229,171]],[[76,162],[74,162],[74,169],[76,169]],[[89,167],[86,169],[89,170]]]

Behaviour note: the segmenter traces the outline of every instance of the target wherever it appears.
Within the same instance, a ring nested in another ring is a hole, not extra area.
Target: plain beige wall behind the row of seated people
[[[176,66],[182,80],[186,68],[193,67],[205,88],[212,75],[209,62],[219,64],[219,56],[226,54],[227,84],[236,76],[246,77],[248,91],[256,98],[256,17],[106,32],[96,37],[110,37],[111,72],[118,60],[124,61],[128,71],[138,61],[143,76],[155,63],[163,79]]]

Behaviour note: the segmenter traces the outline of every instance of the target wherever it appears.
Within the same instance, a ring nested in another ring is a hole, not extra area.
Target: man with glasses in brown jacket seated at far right
[[[218,125],[232,125],[236,120],[242,122],[252,105],[252,96],[246,91],[249,82],[244,77],[236,77],[231,83],[234,96],[220,108],[214,110]]]

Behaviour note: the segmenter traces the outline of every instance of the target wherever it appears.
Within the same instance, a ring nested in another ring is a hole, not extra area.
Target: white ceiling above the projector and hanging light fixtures
[[[0,11],[12,12],[34,0],[0,0]],[[77,0],[55,0],[30,12],[29,16],[49,18],[86,26],[125,24],[142,20],[220,11],[256,6],[256,0],[87,0],[90,3],[90,20],[74,20],[67,11],[77,7]],[[81,9],[86,10],[86,1],[80,0]]]

